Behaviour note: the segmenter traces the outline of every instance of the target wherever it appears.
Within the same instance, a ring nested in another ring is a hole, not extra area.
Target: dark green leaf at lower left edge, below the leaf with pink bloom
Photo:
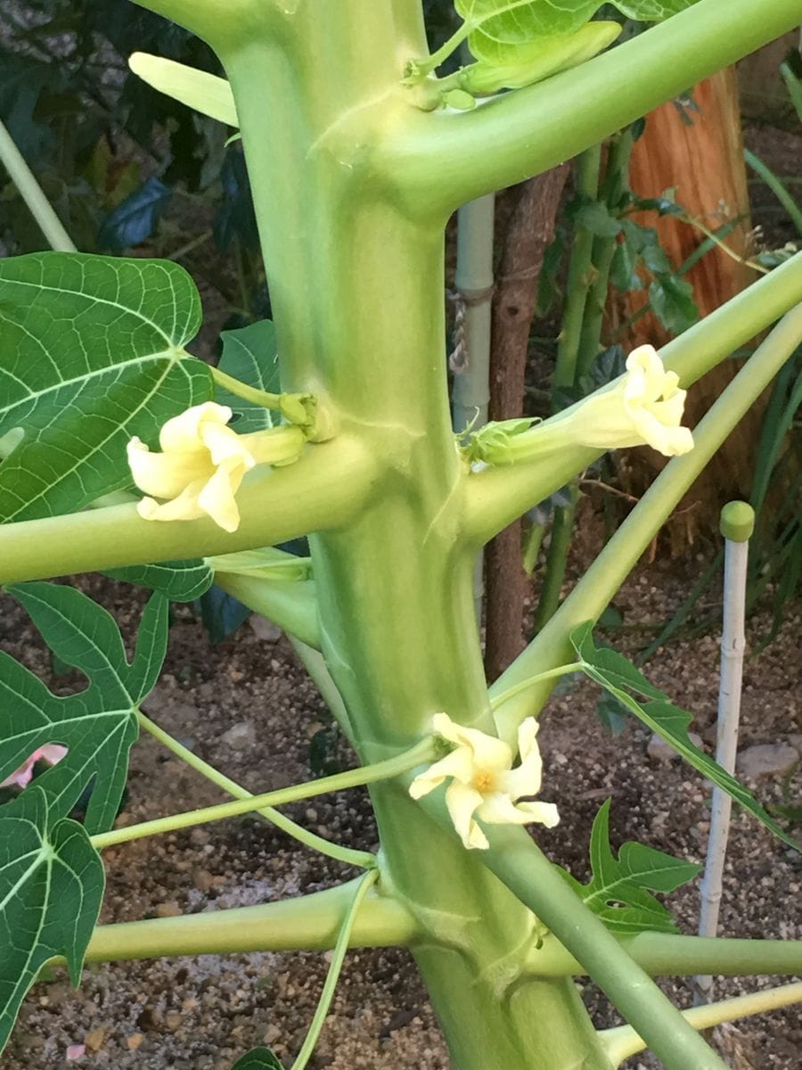
[[[63,954],[73,984],[97,921],[103,862],[81,825],[52,823],[33,785],[0,807],[0,1052],[48,959]]]

